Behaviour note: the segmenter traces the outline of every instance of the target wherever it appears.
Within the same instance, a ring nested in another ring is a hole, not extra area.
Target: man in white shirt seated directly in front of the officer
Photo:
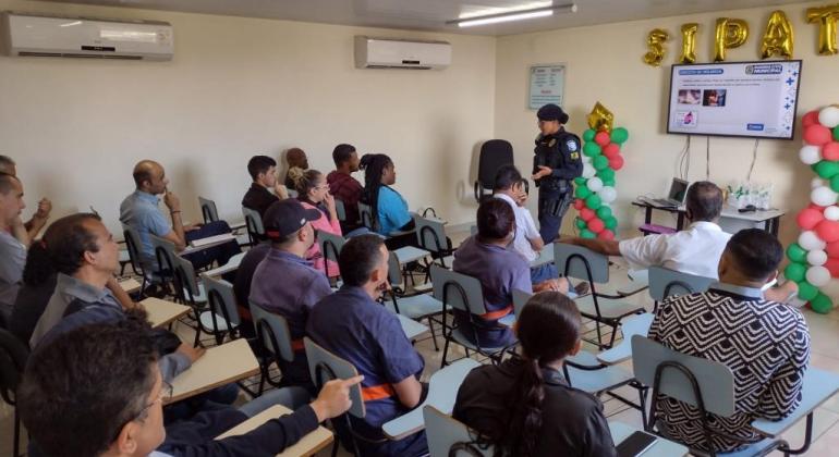
[[[508,247],[527,261],[533,262],[539,258],[539,251],[545,248],[545,242],[542,239],[536,223],[524,202],[527,200],[527,193],[524,192],[524,178],[519,170],[513,165],[504,165],[498,169],[496,182],[493,188],[495,198],[507,201],[515,213],[515,232],[513,232],[513,243]],[[568,280],[559,277],[557,267],[554,262],[543,263],[531,268],[531,283],[535,291],[568,291]],[[573,293],[584,294],[588,291],[587,283],[580,283]]]

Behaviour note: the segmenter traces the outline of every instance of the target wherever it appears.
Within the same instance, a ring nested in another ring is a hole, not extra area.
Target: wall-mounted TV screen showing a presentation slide
[[[801,61],[673,65],[667,133],[792,139]]]

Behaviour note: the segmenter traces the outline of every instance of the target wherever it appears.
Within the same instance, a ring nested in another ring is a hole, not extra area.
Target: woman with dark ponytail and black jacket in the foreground
[[[580,350],[580,311],[562,294],[531,298],[516,323],[521,357],[466,375],[452,416],[496,456],[615,456],[603,405],[569,385],[562,359]]]

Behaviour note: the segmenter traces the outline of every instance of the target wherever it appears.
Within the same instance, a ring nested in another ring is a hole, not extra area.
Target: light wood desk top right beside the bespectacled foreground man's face
[[[168,403],[190,398],[255,374],[259,374],[259,362],[247,339],[240,338],[211,347],[172,381],[172,398]]]

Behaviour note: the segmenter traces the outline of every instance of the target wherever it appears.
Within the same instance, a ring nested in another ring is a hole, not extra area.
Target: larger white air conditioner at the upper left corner
[[[0,51],[5,55],[172,60],[174,30],[166,22],[4,12]]]

